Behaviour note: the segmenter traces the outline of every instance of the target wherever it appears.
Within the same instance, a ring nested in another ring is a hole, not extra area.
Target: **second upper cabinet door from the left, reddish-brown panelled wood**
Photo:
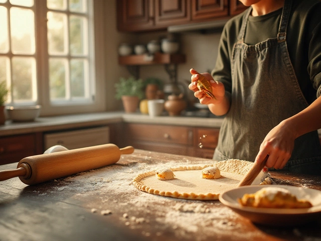
[[[155,0],[155,25],[168,27],[191,20],[190,0]]]

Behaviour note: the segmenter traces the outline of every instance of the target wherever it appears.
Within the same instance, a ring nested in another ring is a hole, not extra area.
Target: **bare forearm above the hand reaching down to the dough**
[[[299,113],[285,119],[281,124],[291,128],[296,138],[321,129],[321,96]]]

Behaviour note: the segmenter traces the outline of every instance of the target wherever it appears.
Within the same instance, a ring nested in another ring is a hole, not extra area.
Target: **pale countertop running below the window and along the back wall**
[[[35,132],[49,132],[63,129],[83,128],[108,125],[113,123],[160,124],[189,127],[220,128],[223,118],[220,117],[186,117],[186,116],[155,116],[124,112],[100,112],[73,114],[52,117],[39,117],[35,122],[13,123],[7,121],[0,126],[0,137]],[[321,136],[321,129],[318,130]]]

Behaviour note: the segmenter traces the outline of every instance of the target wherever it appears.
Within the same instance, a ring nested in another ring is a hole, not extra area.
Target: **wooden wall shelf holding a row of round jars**
[[[120,65],[180,64],[185,62],[185,54],[155,53],[153,55],[141,54],[118,57]]]

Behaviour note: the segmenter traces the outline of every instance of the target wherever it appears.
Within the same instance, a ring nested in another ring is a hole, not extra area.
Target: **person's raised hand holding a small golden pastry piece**
[[[210,73],[202,73],[205,78],[207,78],[212,85],[212,92],[216,99],[212,99],[208,97],[204,91],[201,91],[197,87],[197,81],[199,79],[199,75],[197,71],[194,69],[190,69],[190,73],[192,74],[191,83],[189,84],[189,89],[194,91],[194,96],[200,100],[201,104],[218,104],[222,102],[225,95],[225,88],[222,82],[215,81]]]

